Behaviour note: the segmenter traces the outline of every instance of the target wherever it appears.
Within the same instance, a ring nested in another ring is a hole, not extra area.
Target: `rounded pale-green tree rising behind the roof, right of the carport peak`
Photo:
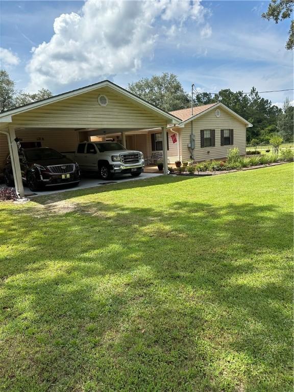
[[[185,109],[191,99],[175,74],[164,72],[161,76],[154,75],[151,79],[143,78],[138,82],[129,83],[129,91],[140,98],[170,112]]]

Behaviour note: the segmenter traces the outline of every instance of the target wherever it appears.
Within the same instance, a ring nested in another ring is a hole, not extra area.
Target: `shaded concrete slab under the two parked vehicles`
[[[155,173],[142,173],[139,177],[131,177],[131,176],[124,176],[120,178],[114,178],[112,180],[100,180],[99,178],[83,178],[79,184],[79,186],[75,187],[48,187],[45,188],[45,190],[42,190],[40,192],[32,192],[29,188],[26,186],[24,187],[24,193],[25,197],[33,198],[36,196],[41,196],[41,195],[46,195],[46,194],[53,194],[53,193],[60,193],[60,192],[66,192],[68,190],[76,190],[76,189],[84,189],[84,188],[93,188],[95,186],[102,186],[102,185],[108,185],[108,184],[114,184],[114,183],[121,183],[125,181],[140,181],[140,180],[145,180],[148,178],[160,176],[160,174],[155,174]]]

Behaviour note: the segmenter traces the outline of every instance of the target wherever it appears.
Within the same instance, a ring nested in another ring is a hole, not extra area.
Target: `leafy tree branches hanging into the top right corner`
[[[293,8],[294,0],[272,0],[272,2],[268,5],[267,11],[264,12],[261,16],[267,20],[274,19],[276,23],[279,23],[281,20],[291,18]],[[286,43],[287,50],[293,50],[293,36],[294,22],[291,20],[289,38]]]

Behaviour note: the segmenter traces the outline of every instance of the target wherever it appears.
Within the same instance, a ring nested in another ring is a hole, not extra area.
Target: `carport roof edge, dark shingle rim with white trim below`
[[[57,94],[54,96],[51,96],[49,98],[45,98],[43,100],[40,101],[36,101],[36,102],[32,102],[30,104],[26,104],[26,105],[22,105],[22,106],[18,106],[17,108],[13,108],[13,109],[8,109],[5,110],[3,112],[0,113],[0,119],[2,118],[2,121],[5,121],[5,119],[3,117],[8,117],[14,114],[18,114],[18,113],[23,113],[23,112],[27,112],[29,110],[35,109],[35,108],[39,108],[41,106],[45,106],[47,104],[51,104],[54,102],[58,102],[58,101],[62,101],[64,99],[67,99],[69,97],[72,96],[76,96],[79,94],[83,94],[85,92],[88,91],[92,91],[95,90],[97,88],[102,88],[102,87],[110,87],[128,97],[130,97],[131,99],[137,101],[138,103],[141,103],[142,105],[156,111],[157,113],[163,115],[164,117],[166,117],[167,119],[171,119],[173,120],[174,124],[178,124],[179,122],[181,122],[181,119],[171,113],[166,112],[165,110],[162,110],[160,108],[158,108],[157,106],[149,103],[148,101],[143,100],[142,98],[140,98],[139,96],[133,94],[132,92],[126,90],[125,88],[122,88],[120,86],[118,86],[115,83],[110,82],[109,80],[104,80],[102,82],[98,82],[98,83],[94,83],[94,84],[90,84],[88,86],[85,87],[81,87],[81,88],[77,88],[75,90],[71,90],[71,91],[67,91],[67,92],[63,92],[61,94]]]

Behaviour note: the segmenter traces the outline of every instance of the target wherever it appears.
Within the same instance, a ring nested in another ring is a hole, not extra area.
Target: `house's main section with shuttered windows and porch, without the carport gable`
[[[233,147],[238,147],[241,155],[246,154],[246,128],[252,127],[252,124],[222,103],[194,107],[193,115],[191,108],[175,110],[170,114],[180,118],[181,122],[167,127],[169,164],[176,161],[223,159]],[[191,149],[191,134],[194,149]],[[91,140],[116,140],[122,143],[119,134],[96,136]],[[155,163],[156,157],[160,157],[158,153],[162,152],[161,130],[126,132],[126,146],[128,149],[142,151],[147,164]]]

